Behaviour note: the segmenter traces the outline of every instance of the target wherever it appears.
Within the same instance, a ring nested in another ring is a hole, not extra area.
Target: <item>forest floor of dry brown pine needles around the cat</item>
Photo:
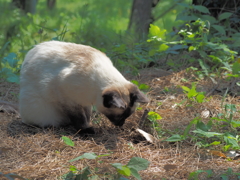
[[[124,130],[114,127],[107,118],[97,113],[92,117],[96,134],[83,137],[75,134],[71,127],[41,129],[21,123],[21,119],[15,115],[0,112],[0,172],[14,173],[32,180],[53,180],[60,179],[61,175],[69,172],[70,165],[74,165],[79,170],[86,166],[98,166],[100,167],[98,173],[111,174],[116,173],[116,169],[110,163],[127,164],[132,157],[141,157],[150,161],[148,169],[140,171],[143,180],[188,179],[189,174],[197,170],[214,172],[214,177],[208,178],[202,173],[198,179],[221,179],[220,175],[228,168],[240,173],[240,159],[229,160],[209,153],[214,147],[198,148],[191,141],[175,143],[164,141],[171,136],[168,132],[183,131],[189,122],[200,116],[204,110],[210,112],[210,116],[203,118],[205,122],[221,113],[223,94],[226,88],[231,86],[230,81],[219,79],[217,86],[208,78],[198,81],[198,91],[206,92],[211,98],[207,102],[195,103],[188,107],[184,105],[187,97],[182,92],[181,86],[191,87],[191,83],[196,81],[191,73],[186,71],[171,73],[152,68],[141,71],[138,77],[129,78],[151,87],[147,93],[151,102],[141,105],[142,110],[137,110],[126,120]],[[164,92],[164,88],[167,91]],[[234,87],[232,91],[240,92],[240,88]],[[19,86],[0,82],[0,92],[2,100],[17,102]],[[238,105],[239,109],[240,96],[227,95],[225,101]],[[176,106],[178,103],[183,105]],[[134,131],[145,108],[162,116],[158,123],[165,134],[163,133],[160,138],[149,128],[150,122],[145,122],[141,127],[158,138],[154,143],[147,142]],[[240,113],[236,113],[234,118],[240,119]],[[66,145],[61,139],[63,135],[70,137],[75,146]],[[95,160],[69,162],[87,152],[110,155],[100,158],[102,163]],[[237,176],[231,178],[238,179]]]

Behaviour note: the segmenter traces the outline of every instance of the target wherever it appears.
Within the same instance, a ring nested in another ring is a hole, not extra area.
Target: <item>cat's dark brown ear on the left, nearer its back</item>
[[[106,108],[111,108],[113,106],[121,109],[126,108],[126,104],[123,102],[123,99],[120,95],[115,91],[108,91],[102,95],[103,97],[103,105]]]

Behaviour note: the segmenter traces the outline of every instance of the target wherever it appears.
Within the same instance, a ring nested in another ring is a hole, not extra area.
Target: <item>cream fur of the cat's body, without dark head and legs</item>
[[[84,45],[49,41],[31,49],[23,62],[19,107],[22,121],[39,126],[68,124],[66,109],[96,105],[102,112],[102,92],[131,84],[102,52]],[[86,127],[87,128],[87,127]]]

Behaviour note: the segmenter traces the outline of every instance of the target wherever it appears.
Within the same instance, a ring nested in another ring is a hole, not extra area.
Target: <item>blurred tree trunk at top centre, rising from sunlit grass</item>
[[[136,35],[136,38],[145,39],[149,26],[153,23],[152,8],[159,0],[134,0],[131,10],[128,30]]]

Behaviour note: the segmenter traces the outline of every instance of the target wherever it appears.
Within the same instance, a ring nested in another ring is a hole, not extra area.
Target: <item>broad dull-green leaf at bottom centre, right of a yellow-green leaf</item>
[[[150,162],[146,159],[140,157],[133,157],[128,162],[127,166],[129,168],[135,169],[136,171],[145,170],[148,168]]]

